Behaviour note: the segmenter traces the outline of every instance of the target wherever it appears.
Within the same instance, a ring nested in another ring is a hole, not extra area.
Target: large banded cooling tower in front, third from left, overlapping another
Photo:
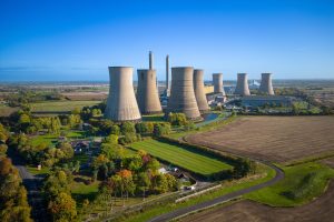
[[[171,88],[166,113],[183,112],[188,119],[202,120],[197,107],[191,67],[171,68]]]

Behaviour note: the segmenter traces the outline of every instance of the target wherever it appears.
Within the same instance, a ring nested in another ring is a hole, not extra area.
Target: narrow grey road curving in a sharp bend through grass
[[[183,138],[183,140],[187,141],[186,138]],[[268,161],[265,161],[265,160],[259,160],[259,159],[252,159],[252,160],[255,160],[257,162],[261,162],[261,163],[263,163],[263,164],[265,164],[265,165],[274,169],[276,171],[275,178],[272,179],[272,180],[269,180],[269,181],[267,181],[267,182],[264,182],[264,183],[250,186],[250,188],[246,188],[246,189],[243,189],[243,190],[238,190],[238,191],[235,191],[235,192],[232,192],[232,193],[227,193],[225,195],[222,195],[219,198],[216,198],[216,199],[213,199],[213,200],[209,200],[209,201],[206,201],[206,202],[202,202],[202,203],[198,203],[198,204],[195,204],[195,205],[190,205],[190,206],[187,206],[187,208],[183,208],[183,209],[178,209],[178,210],[171,211],[169,213],[165,213],[165,214],[158,215],[158,216],[153,218],[151,220],[149,220],[149,222],[169,221],[171,219],[185,215],[185,214],[190,213],[193,211],[197,211],[197,210],[200,210],[200,209],[209,208],[209,206],[216,205],[218,203],[224,203],[224,202],[227,202],[229,200],[236,199],[236,198],[238,198],[240,195],[244,195],[246,193],[250,193],[250,192],[259,190],[262,188],[265,188],[265,186],[268,186],[268,185],[273,185],[274,183],[276,183],[279,180],[284,179],[284,172],[283,172],[283,170],[281,170],[279,168],[277,168],[273,163],[271,163]]]

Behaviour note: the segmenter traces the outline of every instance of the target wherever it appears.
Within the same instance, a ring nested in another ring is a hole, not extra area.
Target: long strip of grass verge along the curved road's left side
[[[153,209],[146,210],[144,212],[131,215],[129,218],[124,218],[120,221],[127,221],[127,222],[149,221],[151,218],[160,215],[163,213],[168,213],[168,212],[171,212],[177,209],[183,209],[186,206],[195,205],[197,203],[202,203],[202,202],[218,198],[220,195],[232,193],[234,191],[238,191],[238,190],[246,189],[246,188],[259,184],[259,183],[264,183],[265,181],[268,181],[275,176],[275,171],[265,165],[258,167],[257,170],[258,170],[257,178],[254,176],[254,178],[244,178],[244,179],[236,180],[236,181],[225,181],[222,183],[222,188],[219,188],[218,190],[205,193],[203,195],[198,195],[198,196],[189,199],[185,202],[157,204],[157,206],[155,206]]]

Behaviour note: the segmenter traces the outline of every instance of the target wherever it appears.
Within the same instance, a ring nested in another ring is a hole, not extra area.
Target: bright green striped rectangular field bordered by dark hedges
[[[232,165],[218,159],[196,153],[196,150],[189,151],[180,145],[153,139],[135,142],[130,144],[130,148],[145,150],[158,159],[203,175],[210,175],[223,170],[232,169]]]

